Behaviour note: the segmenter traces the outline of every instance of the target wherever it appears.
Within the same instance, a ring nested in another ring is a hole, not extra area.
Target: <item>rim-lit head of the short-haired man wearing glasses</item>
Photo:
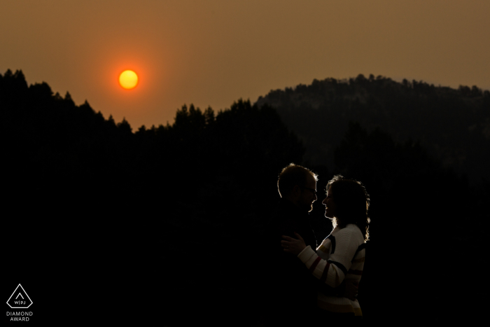
[[[282,169],[277,180],[279,195],[305,211],[313,209],[316,201],[316,181],[318,176],[309,169],[290,164]]]

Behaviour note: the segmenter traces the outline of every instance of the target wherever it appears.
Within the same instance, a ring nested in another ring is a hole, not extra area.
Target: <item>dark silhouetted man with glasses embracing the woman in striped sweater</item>
[[[318,242],[311,228],[318,176],[300,165],[290,164],[279,174],[277,187],[281,199],[267,228],[266,266],[269,303],[265,308],[266,326],[313,326],[317,314],[317,291],[343,295],[344,284],[330,288],[313,276],[297,256],[281,247],[282,236],[301,235],[311,249]],[[350,286],[352,287],[352,286]],[[349,288],[350,290],[351,288]]]

